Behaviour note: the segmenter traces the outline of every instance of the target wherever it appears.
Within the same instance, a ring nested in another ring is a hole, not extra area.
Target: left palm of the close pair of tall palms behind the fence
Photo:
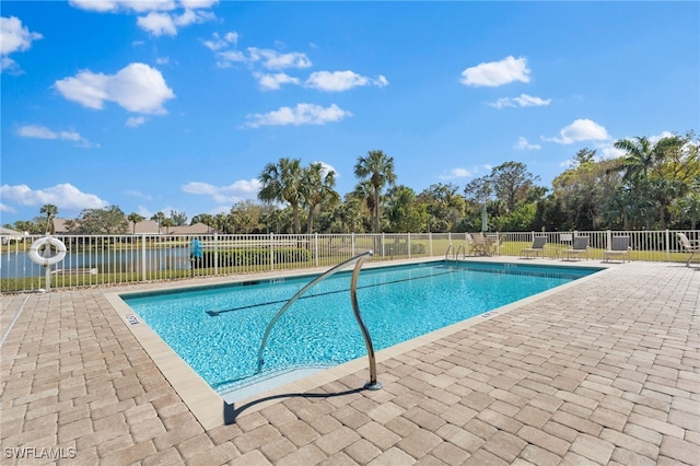
[[[260,174],[260,184],[262,188],[258,193],[258,199],[265,202],[289,202],[294,218],[292,233],[301,233],[299,207],[304,200],[301,160],[282,158],[277,164],[268,163]]]

